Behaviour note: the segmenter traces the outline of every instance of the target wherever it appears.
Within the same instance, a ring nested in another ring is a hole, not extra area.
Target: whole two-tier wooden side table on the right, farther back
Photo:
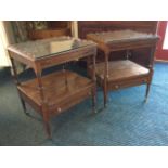
[[[96,64],[95,74],[98,81],[103,87],[104,106],[106,106],[107,91],[125,87],[146,83],[146,99],[153,76],[154,53],[158,37],[153,34],[138,33],[133,30],[117,30],[106,33],[88,34],[87,39],[98,43],[98,48],[104,52],[104,62]],[[129,60],[131,50],[150,48],[150,64],[143,67]],[[126,60],[108,62],[109,53],[126,50]],[[89,72],[93,67],[90,66]]]

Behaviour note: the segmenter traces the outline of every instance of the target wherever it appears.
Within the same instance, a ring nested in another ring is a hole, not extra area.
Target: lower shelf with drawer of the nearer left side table
[[[50,112],[60,113],[91,95],[94,83],[76,73],[64,70],[42,78],[43,96]],[[17,87],[22,98],[40,111],[42,100],[37,79],[26,81]]]

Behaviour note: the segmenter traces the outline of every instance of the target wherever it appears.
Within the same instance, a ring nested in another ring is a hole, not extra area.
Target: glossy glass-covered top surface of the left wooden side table
[[[66,52],[90,44],[93,44],[93,42],[88,40],[80,40],[73,37],[62,36],[43,40],[15,43],[10,46],[8,49],[15,50],[34,59],[39,59],[42,56],[59,54],[61,52]]]

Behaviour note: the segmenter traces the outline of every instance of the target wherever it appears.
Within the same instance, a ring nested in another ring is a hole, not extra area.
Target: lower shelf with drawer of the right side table
[[[104,86],[104,65],[98,63],[95,74],[98,82]],[[89,67],[89,74],[92,72],[92,66]],[[131,62],[129,60],[108,62],[107,89],[116,90],[131,86],[138,86],[151,80],[150,69]]]

